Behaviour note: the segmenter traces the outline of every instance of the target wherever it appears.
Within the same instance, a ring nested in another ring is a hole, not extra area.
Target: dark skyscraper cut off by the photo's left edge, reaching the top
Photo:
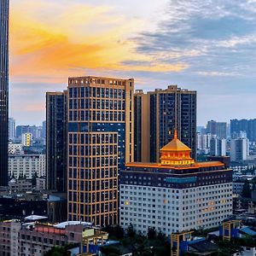
[[[8,185],[9,0],[0,2],[0,186]]]

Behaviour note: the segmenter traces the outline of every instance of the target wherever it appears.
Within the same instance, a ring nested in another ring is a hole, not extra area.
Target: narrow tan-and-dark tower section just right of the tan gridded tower
[[[134,161],[146,162],[150,159],[148,118],[149,100],[143,90],[136,90],[134,94]]]

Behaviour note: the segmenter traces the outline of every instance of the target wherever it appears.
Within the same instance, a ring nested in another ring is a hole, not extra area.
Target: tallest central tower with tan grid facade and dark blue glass
[[[118,223],[118,173],[133,161],[133,79],[68,79],[68,219]]]

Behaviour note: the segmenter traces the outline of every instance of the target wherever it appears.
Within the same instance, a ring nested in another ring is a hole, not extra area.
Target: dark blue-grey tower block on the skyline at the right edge
[[[246,131],[250,142],[256,142],[256,119],[231,119],[230,133],[231,137],[239,137],[240,131]]]

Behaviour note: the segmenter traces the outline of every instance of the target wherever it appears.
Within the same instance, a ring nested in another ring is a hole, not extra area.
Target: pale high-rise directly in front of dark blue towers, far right
[[[230,160],[234,162],[241,162],[247,160],[249,154],[247,138],[232,139],[230,143]]]

